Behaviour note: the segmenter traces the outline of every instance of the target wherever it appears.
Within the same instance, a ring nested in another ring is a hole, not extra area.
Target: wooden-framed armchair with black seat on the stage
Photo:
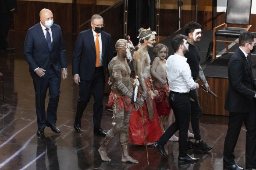
[[[213,59],[216,59],[217,42],[226,42],[226,52],[228,54],[228,43],[238,43],[229,41],[228,38],[238,38],[244,31],[249,31],[252,0],[228,0],[226,10],[226,23],[213,28]],[[231,25],[232,27],[230,27]],[[234,27],[238,26],[238,27]],[[225,40],[217,40],[217,37],[225,37]]]

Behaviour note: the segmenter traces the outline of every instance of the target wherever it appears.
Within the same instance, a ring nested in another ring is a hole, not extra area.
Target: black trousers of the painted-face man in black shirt
[[[188,93],[189,97],[194,99],[194,101],[190,101],[191,104],[191,126],[195,136],[195,140],[200,140],[200,125],[199,118],[202,115],[202,109],[198,100],[198,91],[196,89],[190,90]]]

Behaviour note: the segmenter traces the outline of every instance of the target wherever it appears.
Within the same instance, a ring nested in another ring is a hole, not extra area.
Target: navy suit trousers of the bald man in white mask
[[[45,128],[46,123],[55,125],[57,121],[57,108],[60,97],[60,77],[57,75],[53,66],[50,66],[48,76],[42,78],[36,73],[31,73],[36,92],[36,114],[38,128]],[[45,112],[45,98],[49,88],[49,103]]]

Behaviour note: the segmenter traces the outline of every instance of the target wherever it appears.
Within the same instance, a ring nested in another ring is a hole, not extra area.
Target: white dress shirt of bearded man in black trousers
[[[167,59],[165,67],[171,91],[188,93],[189,90],[196,89],[187,58],[174,53]]]

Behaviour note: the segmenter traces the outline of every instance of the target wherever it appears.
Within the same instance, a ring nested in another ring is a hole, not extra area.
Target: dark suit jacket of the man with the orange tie
[[[103,69],[106,75],[107,66],[113,58],[111,35],[101,32]],[[80,80],[92,80],[96,63],[96,50],[92,29],[79,33],[73,52],[72,75],[79,74]]]

